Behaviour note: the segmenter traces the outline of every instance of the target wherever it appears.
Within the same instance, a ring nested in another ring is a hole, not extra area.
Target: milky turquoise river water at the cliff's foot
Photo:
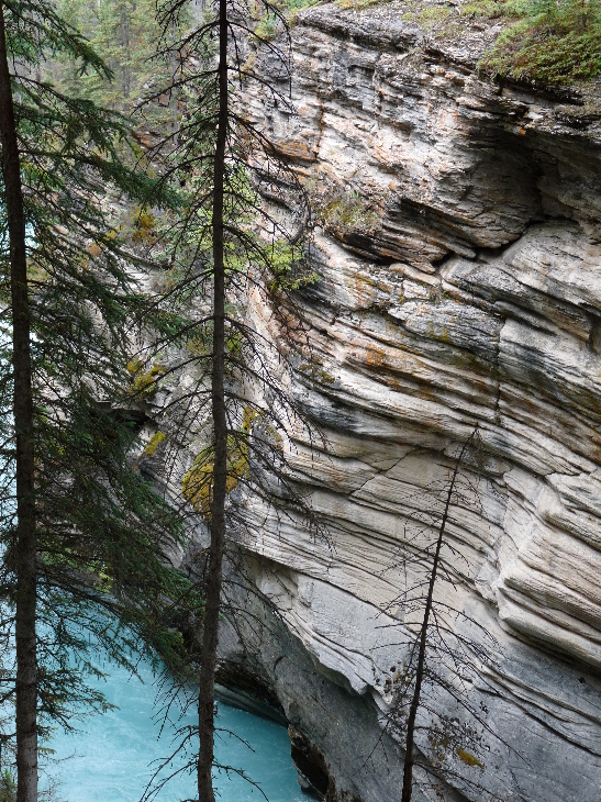
[[[110,676],[99,686],[118,709],[86,720],[79,724],[78,733],[66,735],[57,731],[47,744],[55,753],[47,772],[58,781],[54,797],[62,802],[137,802],[157,761],[174,750],[172,727],[166,727],[158,737],[159,727],[154,721],[156,684],[151,667],[138,667],[143,681],[112,664],[102,670]],[[193,724],[193,715],[178,722],[182,723]],[[220,764],[243,769],[269,802],[305,802],[297,782],[286,727],[221,703],[216,726],[222,729],[215,734]],[[163,776],[181,765],[182,758],[176,756]],[[219,802],[265,799],[257,788],[235,773],[215,772],[215,779]],[[155,799],[179,802],[196,797],[194,777],[182,773],[171,779]]]

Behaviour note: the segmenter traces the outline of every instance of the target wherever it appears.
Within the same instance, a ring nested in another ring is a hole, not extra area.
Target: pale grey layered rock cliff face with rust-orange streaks
[[[479,77],[486,25],[445,42],[402,15],[301,13],[297,114],[249,100],[319,207],[302,334],[287,339],[258,296],[253,314],[316,426],[290,460],[326,534],[248,500],[249,570],[282,619],[249,635],[253,658],[231,659],[252,664],[320,756],[319,791],[399,798],[402,726],[388,716],[423,615],[421,557],[477,427],[435,589],[458,656],[431,659],[456,693],[427,687],[416,737],[438,779],[418,772],[415,799],[594,802],[599,110]],[[276,59],[257,58],[285,91]]]

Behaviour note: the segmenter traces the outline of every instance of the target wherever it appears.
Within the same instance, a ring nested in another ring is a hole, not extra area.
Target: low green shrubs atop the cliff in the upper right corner
[[[600,0],[494,3],[520,18],[480,67],[498,77],[543,85],[589,80],[601,73]]]

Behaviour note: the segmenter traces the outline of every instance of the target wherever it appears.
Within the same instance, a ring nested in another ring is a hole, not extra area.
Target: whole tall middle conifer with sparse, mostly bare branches
[[[180,367],[193,364],[198,379],[193,391],[179,398],[170,413],[175,419],[181,416],[185,431],[192,414],[198,421],[209,411],[212,432],[211,442],[182,481],[183,498],[210,527],[201,641],[192,656],[199,664],[198,727],[187,734],[199,737],[194,768],[202,802],[214,802],[214,676],[224,556],[227,541],[236,531],[244,531],[244,511],[230,503],[230,495],[246,487],[267,499],[266,488],[276,477],[289,501],[300,503],[285,477],[283,438],[278,433],[286,428],[283,419],[290,423],[300,416],[261,357],[265,343],[259,343],[260,337],[236,308],[244,307],[253,289],[261,288],[265,296],[270,292],[277,299],[275,314],[286,326],[293,303],[282,302],[282,290],[314,280],[303,259],[304,193],[293,171],[242,108],[242,83],[249,80],[259,81],[288,104],[280,89],[270,87],[253,69],[252,59],[244,60],[242,40],[253,37],[252,29],[259,21],[258,5],[252,5],[220,0],[175,46],[174,86],[187,98],[187,108],[177,142],[171,137],[154,152],[163,181],[182,185],[187,198],[169,230],[166,253],[162,253],[163,259],[168,256],[175,285],[156,303],[167,303],[171,312],[181,304],[188,316],[156,347],[166,342],[187,346]],[[172,52],[170,31],[174,22],[179,24],[182,7],[179,1],[166,2],[159,10],[167,51]],[[260,7],[263,14],[270,14],[282,31],[283,45],[271,43],[270,48],[287,73],[283,20],[268,2]],[[269,211],[261,193],[288,209],[283,222]],[[190,310],[190,299],[202,297],[207,287],[210,309]],[[261,401],[261,394],[270,397],[271,403]]]

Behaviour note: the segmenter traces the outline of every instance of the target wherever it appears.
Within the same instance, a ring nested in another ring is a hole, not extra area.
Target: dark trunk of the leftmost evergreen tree
[[[37,802],[36,543],[27,259],[19,145],[1,1],[0,137],[10,240],[16,437],[16,800]]]

